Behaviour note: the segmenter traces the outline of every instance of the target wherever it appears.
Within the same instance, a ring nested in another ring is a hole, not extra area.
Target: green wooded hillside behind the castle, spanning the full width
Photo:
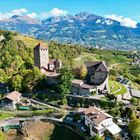
[[[0,31],[0,35],[5,38],[0,42],[0,82],[8,83],[11,90],[34,90],[44,79],[39,69],[34,67],[33,58],[33,47],[41,40],[8,31]],[[140,89],[140,68],[129,64],[132,62],[132,58],[128,58],[129,52],[85,48],[53,41],[47,44],[50,58],[59,58],[64,65],[76,69],[85,61],[103,60],[107,62],[112,76],[124,75],[133,82],[135,88]],[[44,84],[39,85],[45,87]]]

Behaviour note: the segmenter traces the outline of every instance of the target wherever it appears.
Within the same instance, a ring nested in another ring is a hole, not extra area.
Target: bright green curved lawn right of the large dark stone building
[[[110,92],[115,95],[127,93],[127,89],[124,85],[120,84],[117,81],[109,81]]]

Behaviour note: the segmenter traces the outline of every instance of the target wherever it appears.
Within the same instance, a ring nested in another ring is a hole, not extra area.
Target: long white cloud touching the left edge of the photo
[[[8,18],[12,17],[13,15],[23,15],[27,12],[28,12],[27,9],[21,8],[21,9],[12,10],[7,13],[0,13],[0,20],[8,19]]]

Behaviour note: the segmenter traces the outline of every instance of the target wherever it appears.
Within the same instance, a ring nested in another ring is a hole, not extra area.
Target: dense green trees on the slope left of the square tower
[[[0,35],[5,38],[0,42],[0,82],[8,83],[12,90],[33,90],[43,78],[34,67],[33,49],[21,40],[15,40],[12,32],[0,31]]]

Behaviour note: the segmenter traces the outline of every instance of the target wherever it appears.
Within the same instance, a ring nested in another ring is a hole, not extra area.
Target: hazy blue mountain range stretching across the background
[[[140,50],[139,23],[137,28],[128,28],[118,21],[87,12],[43,20],[14,15],[0,20],[0,28],[46,41],[105,49]]]

